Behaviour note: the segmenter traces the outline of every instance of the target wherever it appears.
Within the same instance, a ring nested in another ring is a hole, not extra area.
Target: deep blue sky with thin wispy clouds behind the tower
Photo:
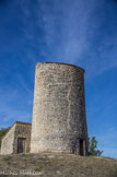
[[[0,128],[32,121],[38,61],[85,69],[89,137],[117,157],[117,0],[0,0]]]

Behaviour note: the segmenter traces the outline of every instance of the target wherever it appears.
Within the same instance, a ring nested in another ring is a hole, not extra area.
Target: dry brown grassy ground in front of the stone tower
[[[73,154],[0,155],[0,177],[117,177],[117,160]]]

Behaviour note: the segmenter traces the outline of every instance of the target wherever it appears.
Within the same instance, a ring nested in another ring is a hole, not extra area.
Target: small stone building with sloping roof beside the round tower
[[[15,121],[1,142],[1,154],[30,153],[32,123]]]

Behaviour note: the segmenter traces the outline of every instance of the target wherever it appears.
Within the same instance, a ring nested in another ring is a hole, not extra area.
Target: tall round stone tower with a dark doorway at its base
[[[84,70],[38,62],[32,122],[31,153],[87,154]]]

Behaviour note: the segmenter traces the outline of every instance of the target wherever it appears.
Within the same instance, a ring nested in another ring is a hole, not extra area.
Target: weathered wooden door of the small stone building
[[[17,139],[17,153],[25,153],[25,140],[24,138]]]

